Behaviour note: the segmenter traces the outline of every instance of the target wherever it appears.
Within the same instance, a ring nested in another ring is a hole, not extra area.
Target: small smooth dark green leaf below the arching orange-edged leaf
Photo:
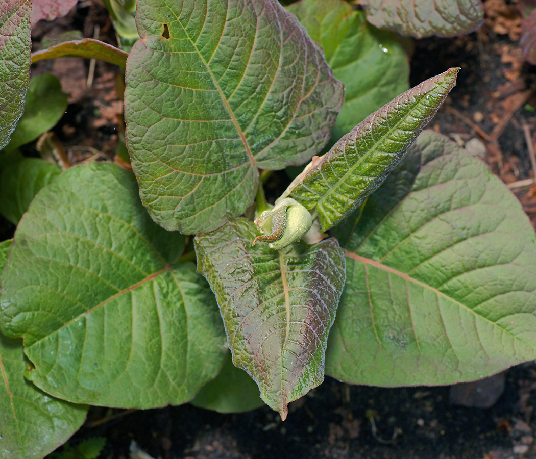
[[[45,73],[33,77],[26,93],[23,116],[5,149],[28,144],[54,127],[65,113],[68,98],[69,94],[62,91],[62,84],[54,75]]]

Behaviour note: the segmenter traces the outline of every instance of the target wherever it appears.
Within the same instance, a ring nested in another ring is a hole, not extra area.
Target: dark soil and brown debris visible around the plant
[[[536,172],[528,153],[536,138],[536,67],[523,62],[518,48],[515,3],[487,0],[486,10],[486,24],[471,35],[415,43],[411,86],[461,67],[458,86],[429,127],[481,156],[511,186],[536,225],[536,185],[527,184]],[[41,21],[33,31],[34,50],[44,37],[54,39],[71,29],[86,37],[98,32],[101,40],[116,44],[103,5],[86,0],[65,18]],[[56,74],[71,93],[67,113],[54,129],[69,161],[112,157],[122,110],[117,68],[97,61],[93,72],[83,59],[56,59],[40,62],[32,72]],[[35,155],[34,146],[26,147],[26,154]],[[274,175],[268,194],[272,190],[277,197],[287,182],[283,172]],[[13,225],[0,223],[0,236],[10,238]],[[106,437],[102,458],[536,458],[534,363],[506,372],[504,392],[491,408],[453,405],[449,390],[349,386],[326,378],[290,405],[285,423],[267,407],[241,415],[189,404],[147,411],[94,407],[71,444]],[[131,456],[132,441],[142,452]]]

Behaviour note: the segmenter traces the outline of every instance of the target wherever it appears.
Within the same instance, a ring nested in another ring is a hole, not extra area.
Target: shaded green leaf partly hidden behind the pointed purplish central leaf
[[[230,356],[216,379],[207,382],[190,403],[219,413],[242,413],[264,405],[254,380],[236,368]]]

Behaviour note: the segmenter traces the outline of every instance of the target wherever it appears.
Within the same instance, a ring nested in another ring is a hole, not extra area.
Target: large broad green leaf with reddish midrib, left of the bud
[[[20,221],[2,279],[2,332],[27,377],[74,402],[149,408],[191,400],[225,358],[214,295],[184,237],[151,221],[131,172],[71,168]]]

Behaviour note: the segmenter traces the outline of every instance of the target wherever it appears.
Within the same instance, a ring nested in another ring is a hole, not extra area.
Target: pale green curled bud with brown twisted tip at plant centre
[[[260,214],[255,224],[263,235],[257,236],[253,245],[260,240],[268,242],[270,249],[281,250],[300,240],[311,229],[312,216],[299,202],[285,198],[273,209]]]

